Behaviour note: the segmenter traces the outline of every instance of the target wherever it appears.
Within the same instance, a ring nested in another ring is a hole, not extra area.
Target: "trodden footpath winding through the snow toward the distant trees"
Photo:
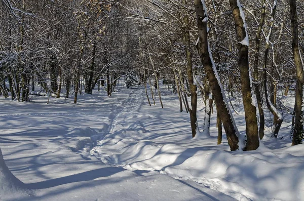
[[[216,185],[212,185],[213,182],[205,182],[203,180],[198,181],[196,179],[190,179],[188,177],[179,177],[178,175],[167,173],[165,171],[165,168],[162,168],[161,170],[154,169],[154,165],[143,165],[140,162],[129,163],[128,158],[130,158],[130,155],[127,155],[129,156],[127,159],[119,157],[120,154],[123,155],[128,152],[128,149],[130,149],[129,154],[131,154],[132,158],[135,158],[137,160],[145,160],[152,157],[152,154],[156,154],[156,149],[160,151],[163,147],[167,148],[168,146],[172,146],[161,145],[160,143],[141,138],[142,134],[148,134],[149,136],[157,135],[157,133],[147,131],[142,123],[146,119],[156,118],[156,116],[151,114],[142,114],[141,108],[144,105],[145,101],[145,96],[143,93],[144,89],[138,88],[136,91],[129,95],[129,99],[127,99],[122,104],[123,109],[113,119],[109,134],[105,135],[102,140],[98,141],[97,146],[91,149],[91,156],[96,156],[96,158],[101,160],[102,163],[115,167],[122,167],[126,170],[138,172],[141,175],[166,175],[173,179],[176,179],[185,185],[188,185],[189,187],[192,187],[193,189],[196,189],[196,187],[199,185],[200,187],[207,187],[206,189],[213,189],[218,191],[219,188],[217,188]],[[146,149],[147,147],[149,147],[147,152],[144,152],[143,154],[138,153],[138,149]],[[148,153],[149,151],[151,152]],[[140,155],[145,156],[144,158],[139,159],[136,158],[134,154],[137,154],[139,158]],[[224,192],[225,190],[221,189],[221,191]],[[226,199],[233,200],[232,197],[227,197]]]

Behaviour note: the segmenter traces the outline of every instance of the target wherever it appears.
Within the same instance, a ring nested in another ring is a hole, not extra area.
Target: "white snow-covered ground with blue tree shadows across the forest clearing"
[[[142,88],[94,91],[78,104],[0,97],[0,147],[24,183],[0,181],[0,200],[304,200],[304,146],[290,146],[288,120],[282,139],[231,152],[225,135],[216,144],[215,113],[211,137],[192,139],[177,96],[163,90],[162,99],[163,109],[158,99],[150,107]],[[202,125],[203,103],[198,116]]]

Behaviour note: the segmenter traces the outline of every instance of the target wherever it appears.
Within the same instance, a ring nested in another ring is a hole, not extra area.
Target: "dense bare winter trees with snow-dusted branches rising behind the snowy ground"
[[[6,98],[28,101],[39,84],[57,98],[65,88],[64,96],[73,95],[77,103],[79,94],[93,93],[97,84],[110,96],[125,75],[127,87],[142,84],[148,103],[155,104],[158,96],[163,107],[163,79],[178,96],[180,111],[189,113],[193,137],[208,137],[215,103],[218,144],[223,126],[231,150],[259,146],[265,113],[272,114],[272,136],[277,138],[282,107],[293,115],[292,145],[302,143],[304,8],[299,1],[0,4],[0,92]],[[279,101],[282,87],[286,95],[295,90],[294,108]],[[206,104],[202,133],[198,95]],[[231,99],[244,106],[244,140],[234,123]]]

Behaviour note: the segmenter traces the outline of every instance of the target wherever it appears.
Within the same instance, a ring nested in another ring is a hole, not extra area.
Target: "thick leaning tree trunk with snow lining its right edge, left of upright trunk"
[[[201,57],[202,63],[210,83],[215,103],[218,111],[221,113],[224,130],[226,132],[227,141],[232,151],[239,149],[239,138],[237,137],[238,130],[234,123],[234,118],[229,109],[229,105],[224,102],[225,94],[221,87],[220,79],[217,74],[215,64],[212,59],[211,50],[207,38],[207,16],[204,11],[202,3],[204,0],[195,0],[195,11],[197,14],[198,30],[199,30],[199,43],[197,44],[198,53]]]

